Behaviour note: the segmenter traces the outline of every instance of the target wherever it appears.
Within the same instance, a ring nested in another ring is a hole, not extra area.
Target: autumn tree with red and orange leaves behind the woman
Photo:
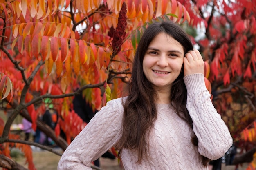
[[[252,149],[255,16],[255,0],[0,0],[0,99],[10,112],[6,123],[0,119],[0,166],[24,169],[10,147],[25,153],[30,170],[29,145],[55,152],[12,134],[17,115],[65,150],[86,126],[73,110],[74,95],[83,93],[96,110],[121,97],[140,35],[161,20],[200,30],[191,40],[206,61],[213,102],[236,144]],[[59,115],[55,130],[38,119],[46,98]]]

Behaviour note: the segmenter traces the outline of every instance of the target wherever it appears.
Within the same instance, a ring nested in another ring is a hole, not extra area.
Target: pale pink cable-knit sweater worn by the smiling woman
[[[193,131],[170,104],[157,104],[157,120],[150,134],[148,157],[141,164],[134,150],[124,149],[126,170],[208,170],[200,154],[218,159],[232,145],[229,130],[213,107],[204,85],[204,75],[184,77],[188,90],[187,109],[193,119],[198,147],[191,143]],[[58,163],[58,170],[91,170],[90,163],[117,144],[123,117],[122,98],[103,107],[72,141]]]

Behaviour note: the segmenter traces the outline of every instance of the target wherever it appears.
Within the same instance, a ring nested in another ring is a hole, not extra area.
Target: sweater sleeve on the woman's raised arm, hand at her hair
[[[184,77],[187,88],[187,109],[193,120],[193,131],[198,137],[198,152],[215,160],[231,147],[233,139],[228,127],[214,108],[203,74]]]

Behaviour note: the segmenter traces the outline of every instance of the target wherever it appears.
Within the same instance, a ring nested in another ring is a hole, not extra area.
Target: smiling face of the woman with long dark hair
[[[155,90],[170,91],[183,64],[182,45],[166,33],[159,33],[150,42],[143,59],[143,72]]]

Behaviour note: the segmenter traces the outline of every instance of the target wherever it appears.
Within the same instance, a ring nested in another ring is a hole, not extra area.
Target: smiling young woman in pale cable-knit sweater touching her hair
[[[128,96],[104,106],[58,170],[91,170],[111,147],[125,170],[207,170],[232,145],[204,84],[204,61],[182,28],[153,23],[139,42]]]

